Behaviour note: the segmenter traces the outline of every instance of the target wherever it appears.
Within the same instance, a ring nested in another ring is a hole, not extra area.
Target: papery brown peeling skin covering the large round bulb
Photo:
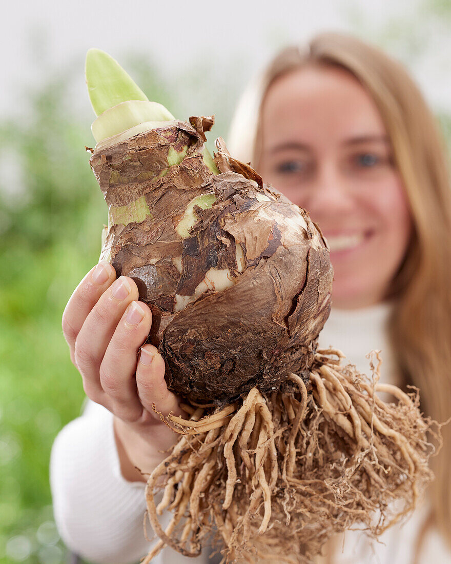
[[[149,342],[165,358],[169,389],[183,398],[223,404],[256,384],[290,387],[291,372],[307,381],[330,310],[326,242],[305,210],[228,155],[222,140],[220,174],[212,174],[200,151],[213,120],[190,121],[92,155],[110,217],[101,258],[136,281],[153,314]],[[170,150],[186,152],[180,164],[168,165]],[[194,207],[197,222],[182,239],[185,208],[205,194],[216,200]],[[129,222],[133,214],[139,221]],[[213,283],[193,297],[210,269],[228,272],[230,287],[217,292]],[[188,303],[176,311],[180,300]]]

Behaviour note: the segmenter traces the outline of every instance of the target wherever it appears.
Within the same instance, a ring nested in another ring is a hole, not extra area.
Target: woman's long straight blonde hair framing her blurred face
[[[262,101],[282,74],[306,64],[348,70],[373,97],[390,136],[404,181],[414,235],[387,296],[396,296],[388,324],[393,358],[405,385],[419,388],[423,411],[439,422],[451,416],[451,190],[445,147],[417,86],[382,51],[338,33],[323,33],[307,47],[288,47],[245,91],[232,121],[232,155],[254,162]],[[345,351],[346,352],[346,351]],[[450,426],[435,459],[430,499],[434,521],[451,546]]]

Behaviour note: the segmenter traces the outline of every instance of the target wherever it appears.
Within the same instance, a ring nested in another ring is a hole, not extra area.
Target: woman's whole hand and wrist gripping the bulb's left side
[[[100,262],[83,278],[63,314],[70,359],[82,376],[86,395],[114,415],[114,431],[124,477],[145,481],[163,460],[161,451],[177,435],[154,413],[180,412],[165,382],[165,363],[156,347],[143,345],[151,310],[138,302],[131,278],[116,280],[114,268]]]

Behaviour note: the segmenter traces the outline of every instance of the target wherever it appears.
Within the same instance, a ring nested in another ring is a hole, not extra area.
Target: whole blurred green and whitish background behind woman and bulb
[[[8,3],[0,21],[0,562],[58,564],[52,442],[79,415],[61,315],[98,261],[107,207],[89,167],[89,47],[109,52],[175,116],[216,114],[227,140],[240,91],[271,55],[347,30],[400,59],[451,145],[451,0]]]

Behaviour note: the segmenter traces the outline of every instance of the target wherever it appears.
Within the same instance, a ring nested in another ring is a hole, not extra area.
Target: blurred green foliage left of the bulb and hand
[[[91,116],[68,110],[69,89],[67,76],[49,81],[30,95],[30,117],[0,124],[0,562],[65,561],[48,461],[84,393],[61,315],[98,261],[107,222],[85,150]],[[162,87],[155,99],[170,102]]]

